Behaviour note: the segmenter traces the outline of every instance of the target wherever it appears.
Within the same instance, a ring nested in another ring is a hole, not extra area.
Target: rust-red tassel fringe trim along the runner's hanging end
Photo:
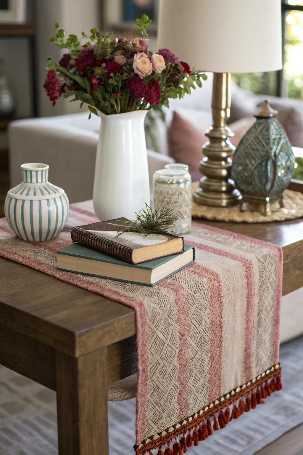
[[[263,404],[265,398],[281,389],[281,366],[276,364],[188,419],[151,436],[139,446],[134,445],[136,455],[183,455],[189,447],[199,445],[200,441],[204,441],[214,431],[225,428],[231,420],[255,409],[257,404]]]

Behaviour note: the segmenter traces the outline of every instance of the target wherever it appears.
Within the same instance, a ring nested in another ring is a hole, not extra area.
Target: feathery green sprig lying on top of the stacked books
[[[175,222],[180,215],[168,208],[160,208],[152,210],[149,205],[146,205],[146,210],[142,208],[139,213],[136,213],[136,219],[129,221],[129,227],[117,234],[116,237],[124,232],[135,232],[144,235],[144,237],[155,231],[171,232]]]

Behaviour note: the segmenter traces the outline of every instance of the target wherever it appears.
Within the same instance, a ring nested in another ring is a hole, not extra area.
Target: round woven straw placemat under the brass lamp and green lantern
[[[199,186],[194,182],[192,192]],[[272,221],[294,220],[303,217],[303,194],[298,191],[285,190],[283,192],[284,207],[271,215],[264,216],[258,212],[241,212],[235,207],[209,207],[200,205],[192,200],[192,217],[204,218],[209,221],[225,221],[235,223],[268,223]]]

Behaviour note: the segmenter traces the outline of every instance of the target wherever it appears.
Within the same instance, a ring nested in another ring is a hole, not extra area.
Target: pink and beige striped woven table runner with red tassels
[[[70,226],[95,220],[71,205]],[[282,250],[195,223],[185,242],[195,263],[150,288],[56,270],[69,233],[29,243],[0,220],[1,256],[134,308],[137,455],[182,455],[282,388]]]

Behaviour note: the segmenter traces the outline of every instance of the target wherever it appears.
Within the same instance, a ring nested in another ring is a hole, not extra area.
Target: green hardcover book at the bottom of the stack
[[[154,286],[193,263],[194,255],[194,247],[184,245],[184,253],[129,264],[75,243],[57,252],[57,268],[82,275]]]

